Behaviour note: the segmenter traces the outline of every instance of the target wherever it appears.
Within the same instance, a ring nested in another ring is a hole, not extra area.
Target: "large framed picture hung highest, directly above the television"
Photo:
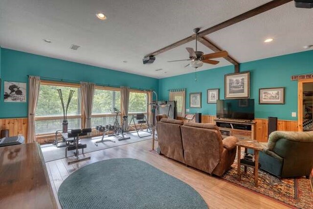
[[[250,71],[227,74],[224,76],[225,99],[249,98]]]

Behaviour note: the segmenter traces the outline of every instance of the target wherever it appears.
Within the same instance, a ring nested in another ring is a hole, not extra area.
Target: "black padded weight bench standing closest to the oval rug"
[[[82,154],[84,154],[84,148],[87,148],[87,144],[82,144],[79,142],[79,137],[87,136],[88,133],[91,133],[91,128],[86,129],[72,129],[67,133],[63,133],[62,136],[66,141],[67,147],[65,148],[65,157],[67,158],[67,151],[75,150],[74,156],[75,160],[69,161],[67,164],[77,163],[80,161],[90,160],[90,157],[79,158],[79,149],[82,149]]]

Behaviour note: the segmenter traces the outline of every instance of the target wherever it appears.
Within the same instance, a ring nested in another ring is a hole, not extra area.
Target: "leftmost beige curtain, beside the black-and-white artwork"
[[[28,127],[26,143],[36,141],[35,137],[35,112],[40,88],[40,77],[28,77]]]

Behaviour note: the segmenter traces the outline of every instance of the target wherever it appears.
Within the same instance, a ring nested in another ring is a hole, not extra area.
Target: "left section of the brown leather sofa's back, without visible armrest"
[[[181,130],[183,121],[161,118],[156,124],[158,146],[161,153],[168,158],[184,163]]]

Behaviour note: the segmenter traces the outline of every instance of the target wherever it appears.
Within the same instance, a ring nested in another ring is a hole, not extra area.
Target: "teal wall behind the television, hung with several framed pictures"
[[[275,116],[279,119],[297,120],[291,112],[297,112],[297,81],[291,81],[291,75],[313,72],[313,50],[288,54],[268,59],[246,62],[240,65],[240,71],[250,71],[250,98],[255,99],[255,117],[267,118]],[[159,80],[159,98],[167,100],[170,89],[186,88],[186,108],[190,113],[216,115],[216,104],[207,104],[206,90],[220,89],[220,99],[224,99],[224,74],[233,73],[233,66],[163,78]],[[284,105],[260,105],[259,89],[285,87]],[[189,93],[201,92],[202,105],[189,108]]]

